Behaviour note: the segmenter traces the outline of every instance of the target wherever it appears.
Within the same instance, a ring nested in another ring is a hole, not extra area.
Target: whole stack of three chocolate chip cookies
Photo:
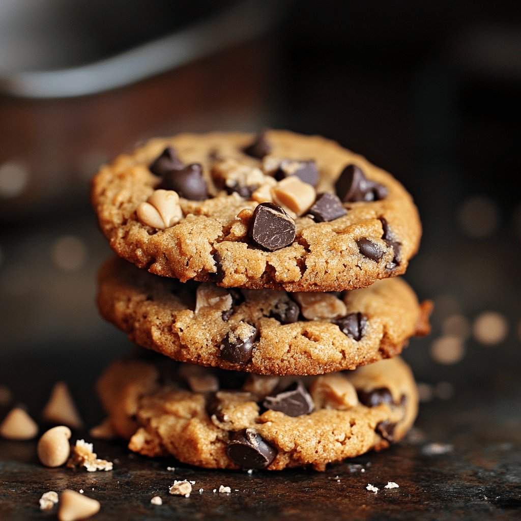
[[[92,201],[118,255],[101,314],[158,353],[98,382],[131,450],[323,470],[405,436],[418,399],[396,355],[430,304],[396,278],[421,226],[389,173],[317,136],[182,134],[103,166]]]

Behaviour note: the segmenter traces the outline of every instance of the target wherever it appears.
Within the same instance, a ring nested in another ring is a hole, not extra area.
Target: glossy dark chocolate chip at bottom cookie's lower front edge
[[[266,468],[277,451],[255,430],[243,429],[230,434],[226,454],[242,468]]]

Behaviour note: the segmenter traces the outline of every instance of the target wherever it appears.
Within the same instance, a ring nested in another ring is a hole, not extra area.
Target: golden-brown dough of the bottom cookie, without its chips
[[[230,434],[253,429],[276,451],[268,470],[308,465],[324,470],[327,463],[371,449],[380,450],[390,441],[399,441],[411,428],[417,413],[413,375],[399,357],[333,374],[343,380],[346,387],[354,387],[357,391],[385,388],[394,403],[369,407],[360,403],[355,393],[352,403],[335,405],[329,402],[327,408],[315,404],[311,414],[296,417],[272,410],[261,414],[258,395],[245,392],[244,389],[252,389],[245,383],[242,390],[222,393],[224,414],[219,419],[208,413],[210,395],[180,388],[178,384],[182,385],[182,381],[179,378],[173,378],[168,386],[160,386],[158,372],[143,382],[141,396],[136,402],[138,387],[133,374],[139,366],[141,374],[154,367],[152,363],[142,361],[118,361],[98,382],[98,394],[114,429],[130,439],[129,448],[135,452],[147,456],[171,454],[181,462],[206,468],[238,468],[226,453]],[[316,379],[306,378],[306,385],[313,389]],[[154,382],[155,391],[151,392],[150,386]],[[128,396],[134,404],[130,409]],[[127,421],[123,420],[125,415]],[[133,428],[129,430],[131,424]],[[388,427],[392,430],[392,439],[382,435],[379,425],[393,426],[392,429]]]

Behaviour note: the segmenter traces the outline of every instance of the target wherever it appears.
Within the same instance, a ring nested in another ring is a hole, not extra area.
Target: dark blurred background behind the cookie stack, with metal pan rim
[[[85,405],[129,350],[94,304],[100,164],[156,135],[288,128],[413,194],[424,239],[406,278],[436,305],[405,353],[423,400],[506,414],[505,392],[521,397],[520,22],[508,0],[0,1],[0,384],[43,403],[65,379]]]

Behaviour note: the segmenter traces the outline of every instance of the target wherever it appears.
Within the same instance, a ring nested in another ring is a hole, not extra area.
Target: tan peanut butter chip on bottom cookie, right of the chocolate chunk
[[[358,404],[356,389],[341,374],[319,376],[309,392],[317,408],[347,411]]]

